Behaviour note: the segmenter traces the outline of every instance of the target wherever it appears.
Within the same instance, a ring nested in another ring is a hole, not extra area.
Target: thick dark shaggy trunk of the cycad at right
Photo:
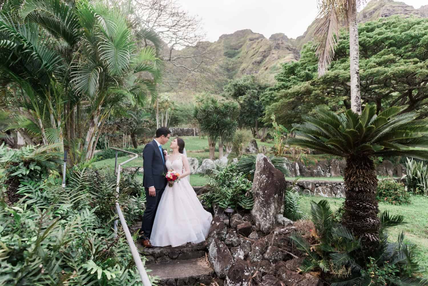
[[[361,238],[364,251],[374,251],[379,246],[380,228],[374,163],[367,156],[352,156],[346,160],[344,173],[346,199],[342,223]]]

